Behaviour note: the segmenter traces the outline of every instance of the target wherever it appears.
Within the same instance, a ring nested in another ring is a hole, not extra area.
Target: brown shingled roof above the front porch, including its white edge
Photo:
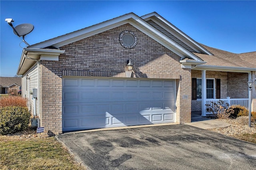
[[[201,44],[202,45],[202,44]],[[228,51],[208,47],[202,45],[205,49],[210,51],[213,55],[206,55],[201,53],[194,53],[207,63],[197,65],[196,68],[209,68],[209,69],[227,69],[227,70],[244,70],[255,71],[256,70],[256,52],[235,54]]]

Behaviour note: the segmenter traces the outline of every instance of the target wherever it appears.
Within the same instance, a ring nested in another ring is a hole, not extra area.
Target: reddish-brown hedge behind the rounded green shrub
[[[6,106],[27,106],[28,99],[22,98],[20,96],[6,96],[0,98],[0,107]]]

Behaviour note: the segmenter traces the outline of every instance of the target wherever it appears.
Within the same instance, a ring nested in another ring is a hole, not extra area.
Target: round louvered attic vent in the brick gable
[[[132,49],[137,44],[137,37],[132,31],[123,31],[119,41],[124,48]]]

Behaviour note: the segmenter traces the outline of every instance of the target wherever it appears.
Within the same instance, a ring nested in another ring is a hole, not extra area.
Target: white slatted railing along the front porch
[[[236,105],[240,105],[245,107],[246,109],[248,109],[248,101],[249,99],[230,99],[229,97],[226,99],[206,99],[206,104],[212,106],[212,102],[218,104],[218,101],[222,100],[223,103],[223,107],[226,107],[227,103],[229,104],[229,106],[236,106]],[[207,111],[208,112],[208,111]]]

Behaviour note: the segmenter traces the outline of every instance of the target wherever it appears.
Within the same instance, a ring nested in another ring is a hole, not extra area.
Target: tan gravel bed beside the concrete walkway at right
[[[248,117],[238,117],[237,119],[218,119],[219,121],[224,121],[229,123],[229,127],[209,129],[210,131],[215,131],[230,137],[236,137],[240,134],[254,134],[256,133],[255,122],[251,123],[251,127],[248,126]]]

